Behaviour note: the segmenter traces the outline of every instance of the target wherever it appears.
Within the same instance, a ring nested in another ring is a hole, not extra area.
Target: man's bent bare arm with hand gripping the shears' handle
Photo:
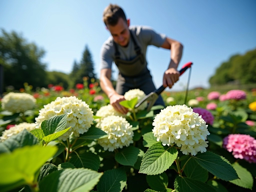
[[[179,72],[177,71],[177,68],[182,57],[183,45],[176,40],[166,37],[161,47],[171,50],[171,61],[168,69],[164,72],[163,86],[172,88],[174,83],[179,80]]]

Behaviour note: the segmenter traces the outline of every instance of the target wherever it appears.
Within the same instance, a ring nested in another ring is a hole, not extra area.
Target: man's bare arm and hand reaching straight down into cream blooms
[[[120,105],[119,102],[125,100],[123,95],[119,95],[110,81],[111,78],[111,69],[101,69],[100,72],[100,87],[108,95],[110,104],[115,108],[115,110],[120,113],[126,114],[128,109]]]

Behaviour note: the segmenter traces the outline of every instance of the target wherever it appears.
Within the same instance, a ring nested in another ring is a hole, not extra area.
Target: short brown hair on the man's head
[[[126,21],[126,16],[121,7],[118,5],[110,4],[104,9],[103,12],[103,21],[105,25],[116,25],[118,22],[118,19],[122,18],[124,21]]]

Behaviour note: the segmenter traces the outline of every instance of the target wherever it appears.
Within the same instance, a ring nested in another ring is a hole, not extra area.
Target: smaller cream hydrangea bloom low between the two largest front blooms
[[[108,137],[101,138],[98,143],[104,150],[114,151],[117,148],[128,147],[133,143],[132,125],[120,116],[107,116],[97,123],[96,127],[109,134]]]

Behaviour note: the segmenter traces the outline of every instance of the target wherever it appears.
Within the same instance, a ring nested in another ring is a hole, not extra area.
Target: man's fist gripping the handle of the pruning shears
[[[175,68],[169,68],[164,72],[163,86],[172,88],[174,83],[179,80],[179,71]]]

